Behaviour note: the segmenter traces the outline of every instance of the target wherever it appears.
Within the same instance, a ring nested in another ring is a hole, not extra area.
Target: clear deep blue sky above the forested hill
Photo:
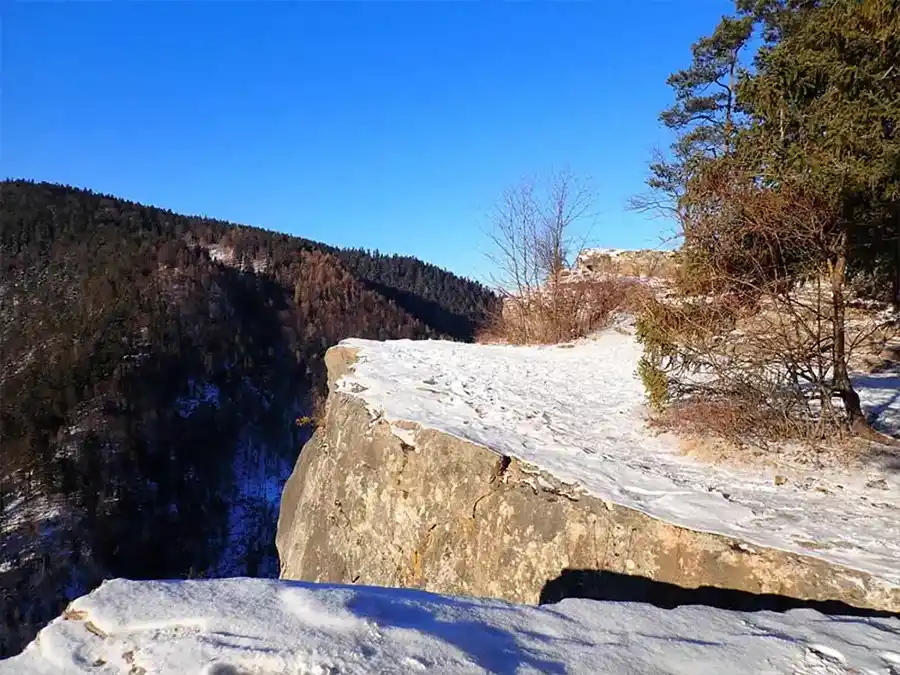
[[[504,187],[568,166],[594,243],[654,246],[625,202],[730,6],[6,2],[0,173],[481,276]]]

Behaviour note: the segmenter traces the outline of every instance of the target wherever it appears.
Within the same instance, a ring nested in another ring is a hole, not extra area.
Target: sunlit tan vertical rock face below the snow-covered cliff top
[[[334,386],[355,356],[339,346],[326,357],[325,422],[282,498],[284,579],[520,603],[571,595],[745,609],[787,602],[758,595],[775,594],[900,611],[900,589],[865,572],[573,494],[487,448],[373,419],[361,398]],[[703,599],[685,595],[701,587]]]

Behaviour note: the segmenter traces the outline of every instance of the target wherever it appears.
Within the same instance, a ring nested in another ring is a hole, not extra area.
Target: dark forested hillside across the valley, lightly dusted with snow
[[[0,657],[103,577],[276,574],[325,350],[469,340],[496,302],[414,258],[61,185],[0,195]]]

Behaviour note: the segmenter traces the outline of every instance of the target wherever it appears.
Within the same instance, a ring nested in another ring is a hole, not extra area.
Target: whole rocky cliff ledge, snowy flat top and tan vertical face
[[[639,355],[621,329],[553,347],[332,348],[324,424],[282,497],[281,577],[900,612],[895,472],[776,485],[686,457],[644,425]],[[861,393],[884,407],[890,392]]]

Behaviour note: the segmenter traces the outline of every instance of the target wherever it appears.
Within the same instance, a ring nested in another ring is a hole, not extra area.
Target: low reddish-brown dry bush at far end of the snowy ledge
[[[648,291],[617,277],[549,284],[527,296],[509,295],[478,336],[479,342],[557,344],[607,327],[618,313],[633,312]]]

